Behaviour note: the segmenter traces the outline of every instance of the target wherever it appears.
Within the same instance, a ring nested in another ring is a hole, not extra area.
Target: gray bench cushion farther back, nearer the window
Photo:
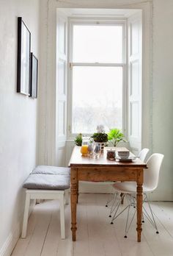
[[[70,175],[70,168],[56,166],[37,166],[32,171],[32,174]]]

